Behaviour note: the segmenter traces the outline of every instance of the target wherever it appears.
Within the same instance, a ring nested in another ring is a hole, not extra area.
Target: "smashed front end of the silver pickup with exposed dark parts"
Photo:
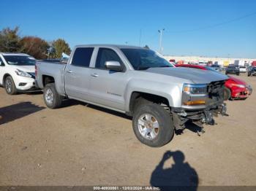
[[[180,108],[172,108],[173,124],[176,130],[184,129],[184,124],[188,120],[203,127],[203,124],[214,125],[214,117],[219,114],[227,115],[227,107],[223,103],[224,85],[225,81],[212,82],[207,87],[206,95],[187,95],[184,93],[182,103],[187,103],[187,101],[197,103],[196,101],[200,100],[205,104],[197,106],[183,105]]]

